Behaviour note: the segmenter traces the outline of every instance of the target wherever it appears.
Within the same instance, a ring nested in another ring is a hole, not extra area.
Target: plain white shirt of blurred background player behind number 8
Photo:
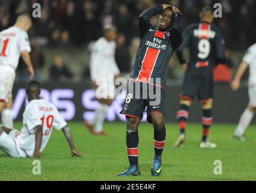
[[[92,81],[109,78],[109,74],[120,74],[115,62],[115,41],[108,42],[104,37],[98,39],[92,48],[90,71]]]

